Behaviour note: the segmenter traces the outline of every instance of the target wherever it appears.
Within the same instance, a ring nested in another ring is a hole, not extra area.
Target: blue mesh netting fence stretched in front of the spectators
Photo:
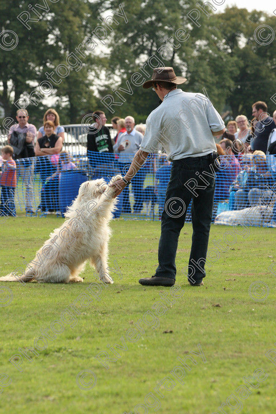
[[[16,160],[17,187],[12,189],[1,181],[0,214],[14,215],[15,207],[31,214],[64,213],[82,182],[124,175],[133,154],[88,152],[71,158],[55,155]],[[215,178],[213,222],[263,226],[276,221],[276,157],[246,154],[221,157],[221,162],[223,168]],[[150,154],[132,184],[120,194],[114,217],[159,220],[171,168],[166,157]],[[191,204],[186,215],[186,221],[190,220]]]

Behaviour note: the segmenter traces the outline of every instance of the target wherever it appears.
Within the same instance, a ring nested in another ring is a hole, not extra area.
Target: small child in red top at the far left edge
[[[16,163],[12,159],[13,148],[5,145],[1,149],[2,171],[0,172],[0,215],[16,216],[14,189],[16,188]]]

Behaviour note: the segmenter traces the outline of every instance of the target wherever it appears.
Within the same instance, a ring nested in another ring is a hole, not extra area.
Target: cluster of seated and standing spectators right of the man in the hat
[[[227,125],[229,131],[235,135],[232,151],[234,152],[233,148],[238,151],[239,165],[238,170],[234,171],[231,158],[225,158],[227,167],[217,173],[214,200],[219,202],[229,199],[229,210],[241,211],[253,206],[269,207],[271,219],[265,225],[276,227],[276,111],[271,117],[267,113],[267,105],[256,102],[252,105],[252,116],[254,118],[250,124],[245,115],[239,115],[236,122],[231,121]],[[239,130],[235,132],[237,127]],[[227,155],[232,155],[230,142],[223,139],[219,144]],[[233,178],[233,174],[235,179],[230,183],[230,176]]]

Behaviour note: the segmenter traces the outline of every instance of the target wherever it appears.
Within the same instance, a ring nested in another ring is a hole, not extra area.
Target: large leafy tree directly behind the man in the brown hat
[[[111,1],[112,9],[118,7],[118,2]],[[221,94],[221,85],[226,88],[234,86],[232,70],[229,70],[230,57],[223,44],[222,32],[215,28],[213,9],[207,9],[208,16],[201,11],[197,21],[195,14],[191,15],[193,9],[200,11],[198,2],[193,0],[146,0],[142,3],[136,0],[127,3],[124,10],[129,21],[115,28],[114,38],[109,44],[111,90],[126,88],[127,80],[131,82],[132,74],[141,73],[141,68],[148,72],[144,77],[149,79],[153,67],[173,66],[176,74],[187,78],[187,83],[180,86],[183,90],[204,92],[205,89],[213,104],[222,110],[225,96]],[[122,78],[117,86],[112,77],[114,73]],[[144,120],[158,104],[156,96],[140,86],[131,86],[133,94],[124,95],[126,103],[117,106],[116,110],[121,113],[127,106],[128,112],[132,110],[138,120]],[[102,97],[106,96],[103,92],[106,89],[101,91]]]

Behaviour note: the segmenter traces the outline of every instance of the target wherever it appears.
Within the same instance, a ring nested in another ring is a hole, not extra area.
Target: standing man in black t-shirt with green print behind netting
[[[114,151],[109,129],[104,126],[106,123],[104,112],[94,111],[93,119],[95,123],[90,126],[87,134],[87,156],[93,170],[92,178],[96,179],[111,175],[107,170],[111,167]],[[104,165],[106,171],[103,171]]]

